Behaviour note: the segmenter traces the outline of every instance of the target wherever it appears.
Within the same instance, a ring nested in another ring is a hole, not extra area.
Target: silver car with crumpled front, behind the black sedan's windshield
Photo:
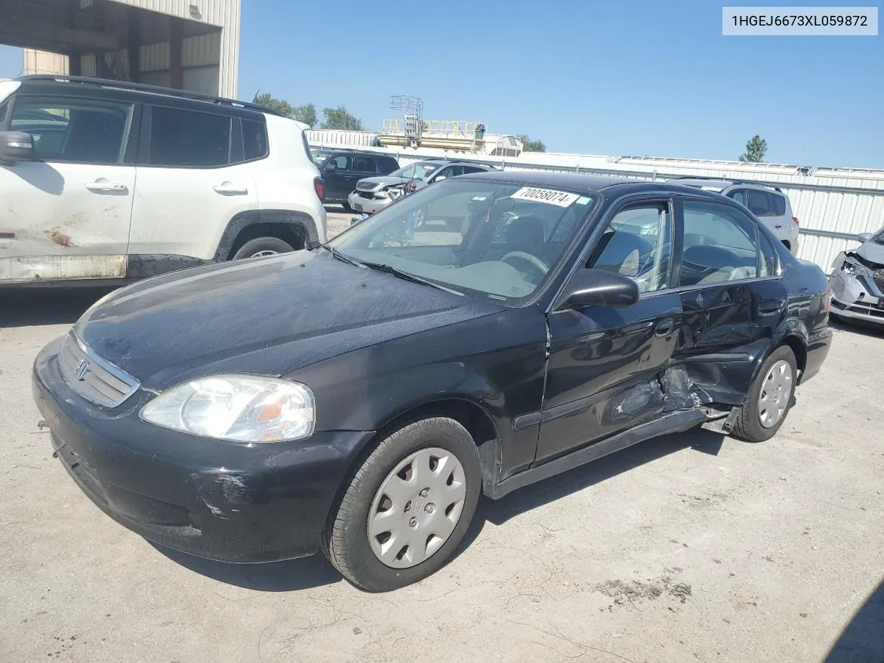
[[[443,179],[496,170],[498,169],[488,164],[453,162],[449,159],[419,161],[393,171],[387,177],[360,179],[355,191],[349,196],[350,209],[374,214],[395,201],[398,194],[405,189],[408,189],[408,193],[413,193]]]

